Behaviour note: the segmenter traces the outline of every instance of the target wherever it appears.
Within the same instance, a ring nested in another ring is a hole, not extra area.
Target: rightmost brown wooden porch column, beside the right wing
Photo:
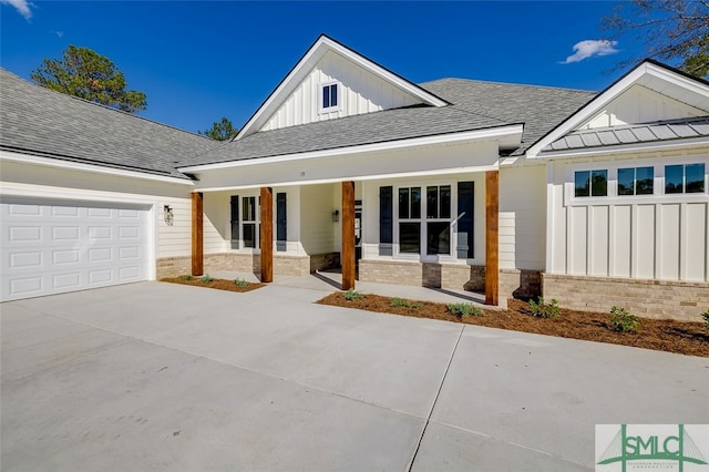
[[[485,305],[497,305],[500,278],[500,172],[485,173]]]

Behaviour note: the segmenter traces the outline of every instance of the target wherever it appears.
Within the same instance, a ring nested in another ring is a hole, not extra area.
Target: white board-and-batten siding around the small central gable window
[[[322,112],[321,88],[338,83],[338,107]],[[392,85],[361,65],[328,51],[291,95],[259,131],[409,106],[421,100]]]

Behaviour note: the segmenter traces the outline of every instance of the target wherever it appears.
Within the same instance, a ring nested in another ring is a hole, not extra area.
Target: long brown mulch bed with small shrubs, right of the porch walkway
[[[451,314],[445,304],[410,301],[418,308],[392,307],[391,297],[369,294],[359,300],[347,300],[343,293],[338,291],[318,304],[709,357],[709,335],[703,322],[638,318],[638,332],[618,332],[612,328],[610,314],[562,308],[556,318],[535,318],[526,302],[515,299],[508,300],[507,310],[483,309],[483,315],[466,317]]]

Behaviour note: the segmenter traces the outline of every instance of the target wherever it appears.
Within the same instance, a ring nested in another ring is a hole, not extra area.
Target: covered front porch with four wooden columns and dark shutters
[[[494,306],[499,240],[496,170],[193,194],[193,275],[315,274],[342,290],[389,284]]]

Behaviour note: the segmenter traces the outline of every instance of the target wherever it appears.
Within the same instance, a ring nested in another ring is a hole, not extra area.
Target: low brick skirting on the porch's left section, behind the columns
[[[274,254],[274,275],[304,276],[316,270],[338,267],[339,253],[317,254],[312,256],[291,256]],[[157,279],[177,277],[189,274],[192,257],[163,257],[156,261]],[[259,254],[217,253],[204,255],[204,271],[234,270],[239,273],[260,274],[261,256]],[[197,275],[197,274],[194,274]]]

